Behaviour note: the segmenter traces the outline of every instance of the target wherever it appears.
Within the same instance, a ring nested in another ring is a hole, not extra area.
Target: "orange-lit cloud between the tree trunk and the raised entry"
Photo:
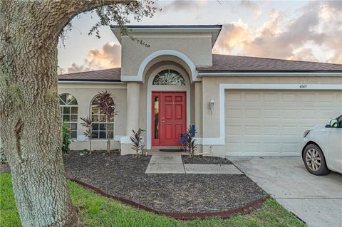
[[[67,70],[58,68],[58,74],[78,73],[105,68],[117,68],[121,65],[121,46],[117,43],[108,42],[100,49],[88,51],[83,65],[72,63]]]

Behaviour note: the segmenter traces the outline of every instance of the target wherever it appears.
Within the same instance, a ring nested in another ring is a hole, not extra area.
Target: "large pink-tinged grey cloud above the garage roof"
[[[295,19],[271,10],[269,21],[254,31],[241,20],[227,23],[214,52],[316,61],[313,49],[320,48],[326,53],[321,61],[342,63],[341,11],[331,2],[309,2]]]

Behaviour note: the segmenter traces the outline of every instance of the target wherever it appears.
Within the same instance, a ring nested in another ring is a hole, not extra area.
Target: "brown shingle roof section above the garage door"
[[[342,73],[342,64],[316,63],[301,60],[281,60],[247,56],[213,54],[212,67],[197,68],[199,72],[333,72]]]

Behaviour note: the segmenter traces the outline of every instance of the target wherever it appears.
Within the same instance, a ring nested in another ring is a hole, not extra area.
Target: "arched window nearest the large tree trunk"
[[[61,107],[61,120],[68,122],[71,127],[71,138],[77,139],[77,100],[73,95],[63,94],[59,96],[59,107]]]

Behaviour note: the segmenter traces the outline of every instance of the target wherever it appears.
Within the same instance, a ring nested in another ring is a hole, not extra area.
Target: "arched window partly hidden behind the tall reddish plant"
[[[113,139],[114,135],[114,117],[109,122],[105,120],[105,114],[98,107],[98,95],[91,102],[91,120],[93,121],[93,139],[106,139],[106,127],[108,128],[109,137]]]

